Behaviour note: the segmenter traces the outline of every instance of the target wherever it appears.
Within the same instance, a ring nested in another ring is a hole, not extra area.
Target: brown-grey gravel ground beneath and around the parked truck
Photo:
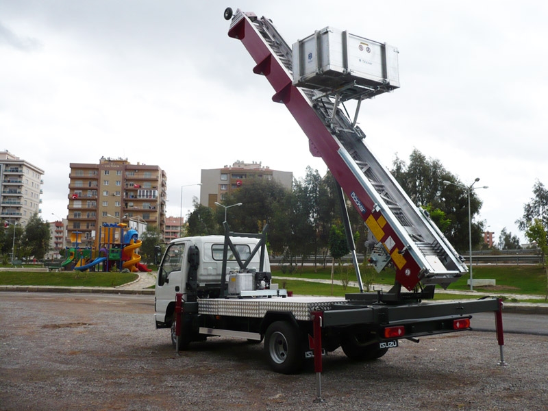
[[[548,336],[463,332],[383,358],[270,371],[262,344],[212,338],[176,356],[153,297],[0,294],[0,410],[547,410]]]

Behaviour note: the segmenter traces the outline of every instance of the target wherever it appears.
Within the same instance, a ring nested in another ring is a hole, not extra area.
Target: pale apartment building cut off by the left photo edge
[[[25,224],[40,210],[44,171],[34,164],[0,151],[0,220]]]

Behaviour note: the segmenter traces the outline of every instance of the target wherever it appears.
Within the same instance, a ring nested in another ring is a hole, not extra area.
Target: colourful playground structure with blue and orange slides
[[[82,233],[73,232],[73,247],[67,247],[68,256],[61,266],[66,271],[151,271],[141,264],[141,256],[136,252],[142,245],[138,232],[126,227],[123,223],[103,223],[93,247],[80,247]]]

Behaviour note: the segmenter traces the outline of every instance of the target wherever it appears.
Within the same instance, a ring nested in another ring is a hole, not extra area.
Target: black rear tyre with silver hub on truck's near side
[[[264,351],[271,369],[295,374],[303,369],[304,345],[299,329],[286,321],[275,321],[264,336]]]

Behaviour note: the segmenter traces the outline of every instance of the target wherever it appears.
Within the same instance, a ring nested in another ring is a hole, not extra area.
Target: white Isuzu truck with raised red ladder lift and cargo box
[[[415,206],[364,142],[356,124],[360,102],[399,88],[397,49],[348,32],[325,28],[289,47],[269,18],[227,8],[228,35],[236,38],[309,139],[337,182],[347,242],[359,292],[345,297],[293,296],[273,282],[266,226],[259,234],[172,240],[158,249],[155,323],[171,327],[175,349],[214,336],[264,340],[273,371],[299,373],[307,360],[321,372],[321,358],[339,347],[353,361],[375,360],[402,339],[470,330],[477,312],[493,312],[503,359],[502,302],[495,297],[433,301],[466,264],[425,210]],[[350,119],[340,104],[357,99]],[[369,262],[392,267],[388,292],[365,292],[351,235],[345,195],[375,238]]]

